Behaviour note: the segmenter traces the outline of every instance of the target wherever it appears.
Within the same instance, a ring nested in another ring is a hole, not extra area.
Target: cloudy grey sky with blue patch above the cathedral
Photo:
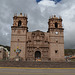
[[[61,16],[65,48],[75,49],[75,0],[0,0],[0,44],[10,46],[15,13],[28,16],[29,31],[44,32],[50,16]]]

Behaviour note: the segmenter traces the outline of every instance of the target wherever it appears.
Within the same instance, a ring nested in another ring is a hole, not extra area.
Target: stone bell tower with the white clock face
[[[49,33],[49,58],[51,61],[64,61],[64,29],[62,27],[62,18],[50,17],[48,22]]]

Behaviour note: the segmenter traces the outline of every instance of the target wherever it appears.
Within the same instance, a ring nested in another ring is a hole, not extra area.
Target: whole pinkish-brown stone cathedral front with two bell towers
[[[64,61],[62,18],[50,17],[47,32],[28,32],[27,22],[27,17],[22,13],[13,17],[10,60]]]

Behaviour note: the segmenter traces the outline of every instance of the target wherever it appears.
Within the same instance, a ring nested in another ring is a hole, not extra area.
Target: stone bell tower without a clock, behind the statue
[[[20,49],[19,57],[22,60],[26,60],[26,37],[27,37],[27,16],[15,14],[13,17],[13,26],[11,27],[11,51],[10,59],[15,59],[17,55],[17,49]]]

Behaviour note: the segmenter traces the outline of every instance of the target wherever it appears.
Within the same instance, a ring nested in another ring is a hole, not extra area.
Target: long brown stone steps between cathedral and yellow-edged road
[[[0,61],[0,67],[75,68],[75,62]]]

